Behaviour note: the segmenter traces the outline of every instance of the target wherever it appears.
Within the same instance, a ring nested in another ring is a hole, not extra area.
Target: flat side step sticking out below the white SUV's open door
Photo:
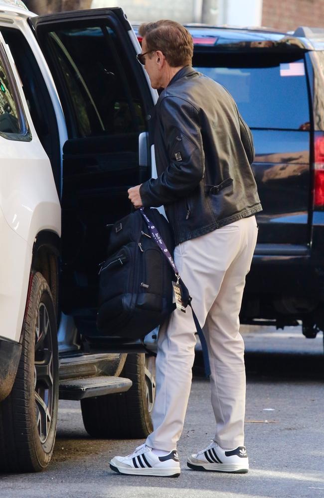
[[[100,377],[63,380],[59,384],[60,399],[84,399],[115,392],[124,392],[132,386],[129,378],[102,375]]]

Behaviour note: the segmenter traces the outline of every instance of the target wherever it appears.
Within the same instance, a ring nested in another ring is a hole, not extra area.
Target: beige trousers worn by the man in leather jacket
[[[243,218],[174,250],[175,264],[206,338],[214,439],[224,449],[244,444],[244,343],[238,315],[257,231],[254,216]],[[159,331],[154,431],[147,438],[152,448],[176,448],[190,393],[195,343],[191,309],[175,310]]]

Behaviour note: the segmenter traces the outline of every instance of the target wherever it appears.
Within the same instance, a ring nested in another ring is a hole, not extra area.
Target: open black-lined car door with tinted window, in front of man
[[[141,47],[121,8],[44,15],[30,23],[68,130],[61,308],[80,332],[93,335],[98,265],[106,257],[109,227],[131,211],[127,190],[151,177],[145,138],[158,94],[136,60]]]

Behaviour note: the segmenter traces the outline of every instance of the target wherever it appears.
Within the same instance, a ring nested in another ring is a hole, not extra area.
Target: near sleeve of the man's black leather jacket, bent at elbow
[[[143,183],[144,206],[170,204],[189,194],[204,174],[204,153],[198,112],[178,97],[164,97],[160,104],[162,141],[168,166],[158,178]]]

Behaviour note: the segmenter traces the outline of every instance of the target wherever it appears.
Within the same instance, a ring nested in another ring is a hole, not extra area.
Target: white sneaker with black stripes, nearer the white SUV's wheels
[[[110,468],[119,473],[136,476],[179,477],[180,464],[176,450],[164,457],[152,453],[152,448],[142,444],[126,457],[114,457]]]

